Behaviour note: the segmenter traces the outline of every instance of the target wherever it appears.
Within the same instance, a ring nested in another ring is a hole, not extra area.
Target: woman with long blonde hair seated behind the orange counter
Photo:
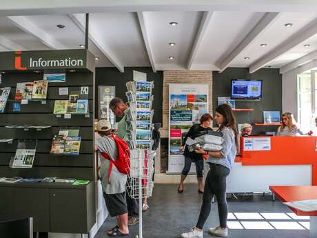
[[[296,126],[296,121],[292,112],[284,112],[282,115],[282,126],[278,128],[276,136],[296,136],[304,135]]]

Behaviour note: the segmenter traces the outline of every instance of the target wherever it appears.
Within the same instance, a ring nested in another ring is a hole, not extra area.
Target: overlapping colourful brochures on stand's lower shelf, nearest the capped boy
[[[56,155],[79,155],[81,137],[78,129],[61,129],[59,135],[52,140],[51,154]]]

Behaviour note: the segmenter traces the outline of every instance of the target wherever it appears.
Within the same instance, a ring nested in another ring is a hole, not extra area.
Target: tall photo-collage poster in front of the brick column
[[[183,170],[182,141],[192,125],[208,112],[208,85],[170,83],[169,85],[169,149],[167,173]],[[194,163],[190,172],[196,172]]]

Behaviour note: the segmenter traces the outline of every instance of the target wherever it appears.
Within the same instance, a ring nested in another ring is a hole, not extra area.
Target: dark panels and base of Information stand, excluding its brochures
[[[30,59],[41,59],[45,67],[30,65]],[[0,175],[30,179],[30,182],[13,184],[0,181],[3,195],[0,220],[33,217],[35,232],[82,234],[87,234],[95,224],[94,62],[94,55],[85,49],[0,52],[0,71],[3,72],[0,88],[11,88],[6,108],[0,113],[0,135],[13,139],[12,143],[0,143]],[[14,99],[17,83],[39,81],[44,73],[52,72],[65,73],[65,81],[50,81],[46,99],[30,99],[28,103]],[[61,88],[66,88],[68,93],[61,93],[65,92]],[[73,92],[79,99],[88,100],[89,117],[54,115],[55,101],[69,100]],[[19,106],[14,108],[16,103]],[[60,128],[69,126],[79,128],[79,155],[50,154],[54,135],[59,135]],[[10,168],[10,159],[15,156],[19,141],[24,139],[37,141],[32,168]],[[63,182],[32,182],[32,179],[45,177],[75,178],[90,183],[75,186]]]

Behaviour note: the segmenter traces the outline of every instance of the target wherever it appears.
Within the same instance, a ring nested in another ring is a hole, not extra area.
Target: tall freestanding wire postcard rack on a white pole
[[[151,197],[154,182],[154,152],[152,149],[152,89],[151,81],[127,82],[127,142],[130,148],[130,179],[128,192],[139,199],[139,237],[142,237],[142,198]],[[141,186],[139,186],[141,185]],[[141,196],[140,196],[141,195]]]

